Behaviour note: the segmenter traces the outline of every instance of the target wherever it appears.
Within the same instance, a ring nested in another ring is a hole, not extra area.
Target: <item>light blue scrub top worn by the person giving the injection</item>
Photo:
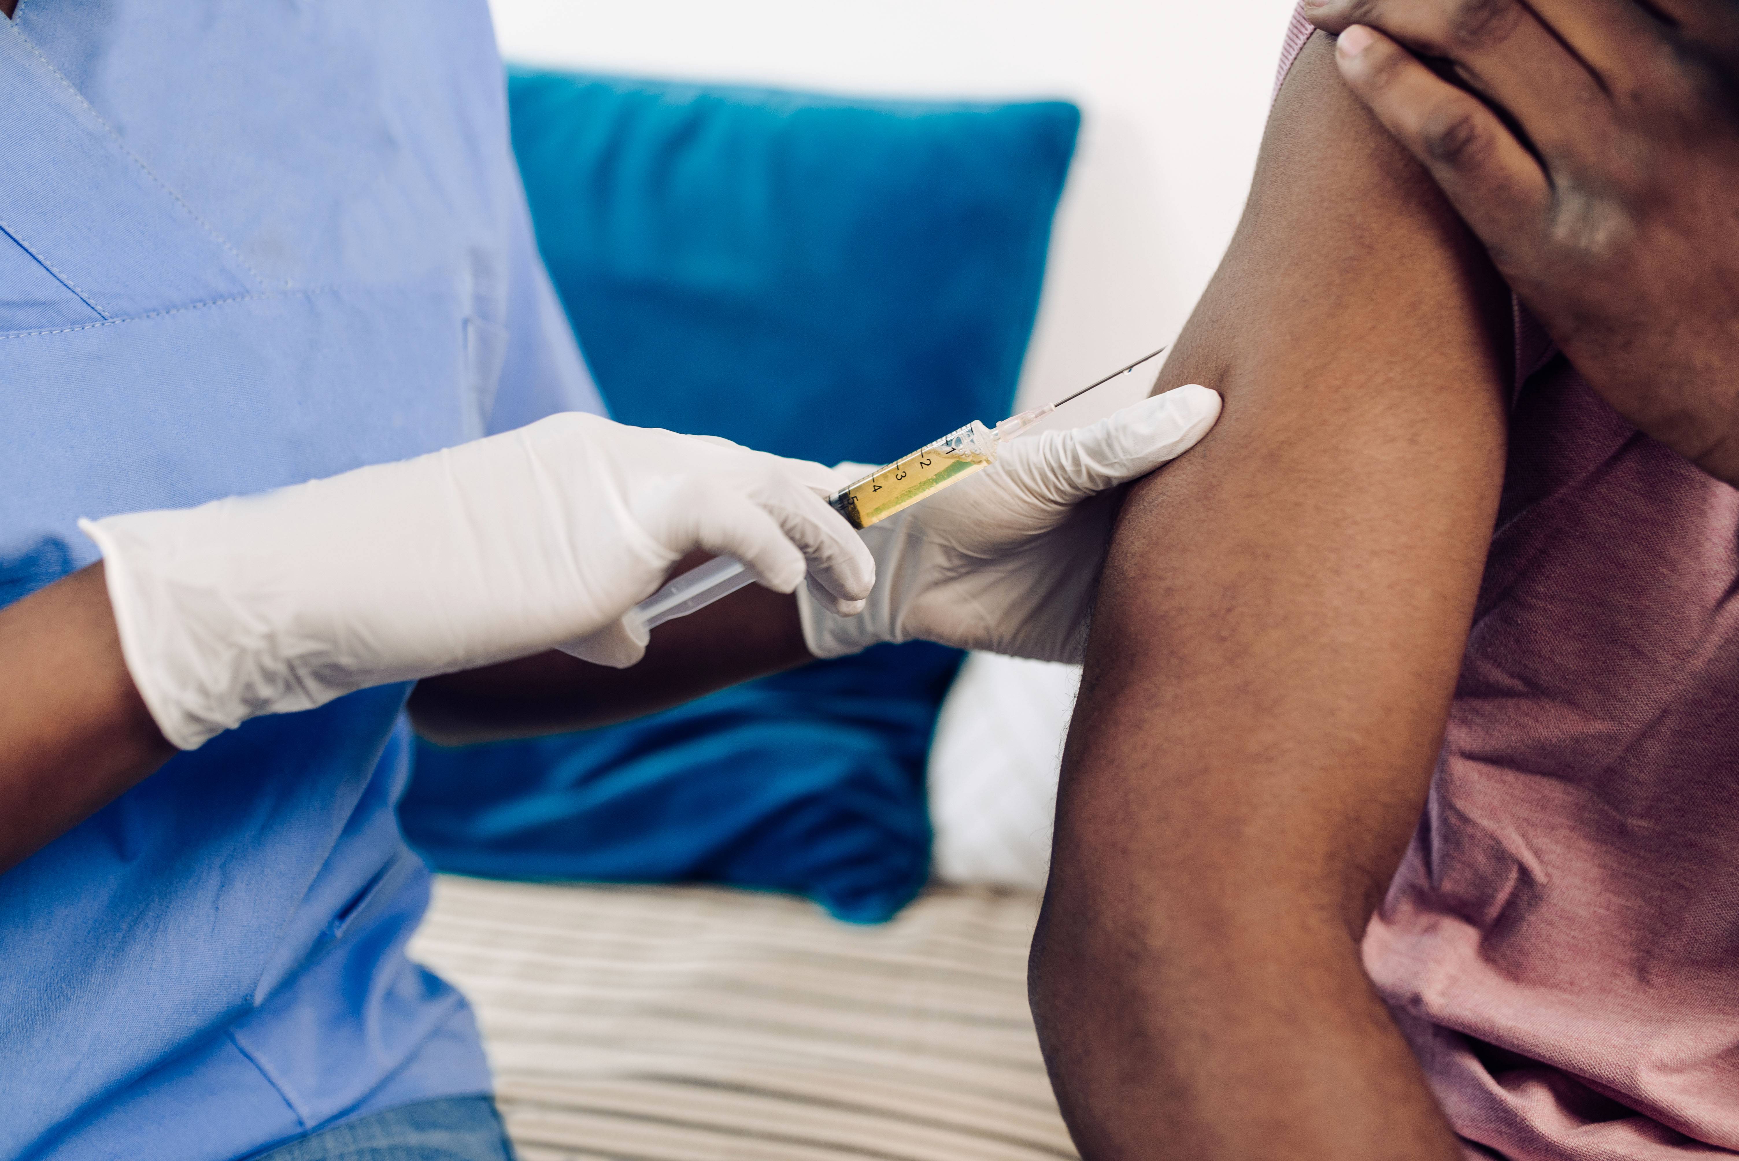
[[[78,516],[602,410],[480,0],[0,24],[0,603],[94,560]],[[489,1088],[403,954],[407,688],[250,721],[0,876],[0,1156],[223,1161]]]

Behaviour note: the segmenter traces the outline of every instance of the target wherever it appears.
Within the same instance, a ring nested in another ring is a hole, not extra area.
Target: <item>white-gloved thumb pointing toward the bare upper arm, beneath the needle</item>
[[[1050,504],[1078,504],[1089,495],[1137,480],[1177,459],[1219,419],[1219,393],[1200,384],[1155,395],[1069,431],[1047,431],[1010,445],[1003,459],[1036,497]],[[1016,452],[1021,452],[1016,455]]]

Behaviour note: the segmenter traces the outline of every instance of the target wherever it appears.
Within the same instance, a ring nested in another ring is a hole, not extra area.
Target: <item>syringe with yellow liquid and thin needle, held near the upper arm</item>
[[[996,462],[996,452],[1005,440],[1016,438],[1069,400],[1078,400],[1094,388],[1104,386],[1118,375],[1127,375],[1163,351],[1165,348],[1160,348],[1153,355],[1143,355],[1129,367],[1089,382],[1075,395],[1061,398],[1056,403],[1035,407],[1019,415],[1010,415],[995,428],[974,419],[965,428],[949,431],[941,440],[923,445],[911,455],[903,455],[892,464],[876,468],[863,480],[840,488],[828,497],[828,504],[845,516],[854,528],[868,528],[876,521],[887,520],[903,508],[909,508],[923,497],[934,495],[983,468],[989,468]],[[730,596],[753,579],[734,556],[715,556],[640,601],[628,614],[630,627],[638,620],[643,629],[650,631],[666,620],[687,617],[716,600]]]

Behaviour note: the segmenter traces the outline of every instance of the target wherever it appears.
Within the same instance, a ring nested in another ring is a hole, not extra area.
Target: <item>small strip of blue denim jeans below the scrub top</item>
[[[513,1161],[489,1097],[400,1105],[297,1137],[249,1161]]]

